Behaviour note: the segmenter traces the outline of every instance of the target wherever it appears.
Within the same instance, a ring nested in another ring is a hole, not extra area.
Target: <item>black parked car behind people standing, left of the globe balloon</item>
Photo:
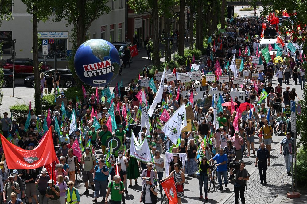
[[[69,69],[57,69],[57,71],[61,75],[60,84],[59,84],[60,87],[69,88],[76,84],[74,78],[72,77],[72,72]],[[44,73],[45,78],[49,76],[49,73],[52,73],[52,77],[53,77],[54,69],[49,69],[43,73]],[[25,86],[35,87],[34,75],[27,76],[24,79],[23,83],[25,84]]]

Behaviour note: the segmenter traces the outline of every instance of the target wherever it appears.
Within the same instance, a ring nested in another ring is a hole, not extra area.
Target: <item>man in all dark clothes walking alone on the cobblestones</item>
[[[263,182],[264,184],[266,184],[266,168],[267,166],[270,166],[270,153],[265,148],[264,143],[260,144],[260,148],[257,151],[255,167],[257,167],[258,160],[259,160],[259,174],[260,174],[260,182],[261,182],[260,184],[263,185]],[[268,160],[268,164],[266,163],[266,160]]]

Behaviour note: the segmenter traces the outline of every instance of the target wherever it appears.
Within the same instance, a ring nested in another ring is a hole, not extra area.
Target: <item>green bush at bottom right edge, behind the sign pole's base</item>
[[[307,150],[300,148],[297,153],[296,171],[297,186],[307,187]]]

